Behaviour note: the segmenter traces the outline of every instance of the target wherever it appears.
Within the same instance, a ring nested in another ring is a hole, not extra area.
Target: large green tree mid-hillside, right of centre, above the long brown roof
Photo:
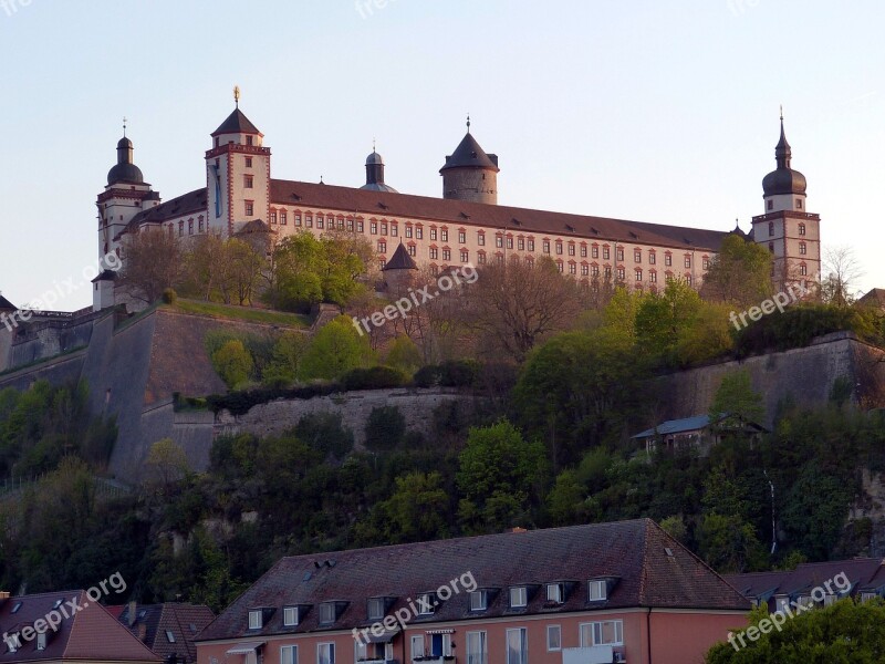
[[[543,445],[527,443],[508,421],[471,428],[456,475],[466,528],[494,531],[524,520],[545,474]]]

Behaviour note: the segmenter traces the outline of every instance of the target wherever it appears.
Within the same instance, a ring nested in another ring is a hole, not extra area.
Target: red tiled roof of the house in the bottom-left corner
[[[61,600],[61,602],[59,602]],[[71,602],[71,604],[69,604]],[[56,606],[56,603],[59,605]],[[13,609],[20,604],[18,611]],[[80,610],[74,611],[74,606]],[[70,618],[62,620],[58,631],[48,631],[46,647],[37,649],[37,639],[21,640],[22,647],[11,653],[0,643],[0,662],[158,662],[159,657],[121,625],[101,604],[92,602],[82,590],[22,595],[2,601],[0,633],[13,634],[25,626],[46,620],[52,611],[62,609]]]

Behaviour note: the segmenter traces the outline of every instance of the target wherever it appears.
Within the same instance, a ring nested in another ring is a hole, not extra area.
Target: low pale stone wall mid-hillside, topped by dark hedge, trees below
[[[428,435],[433,430],[434,411],[450,402],[459,402],[462,407],[471,409],[476,406],[471,395],[450,388],[366,390],[308,400],[278,400],[254,406],[240,416],[222,411],[216,418],[216,436],[237,433],[278,435],[295,426],[304,415],[334,413],[341,415],[342,424],[353,432],[356,445],[362,447],[366,422],[374,408],[396,406],[406,418],[408,430]]]

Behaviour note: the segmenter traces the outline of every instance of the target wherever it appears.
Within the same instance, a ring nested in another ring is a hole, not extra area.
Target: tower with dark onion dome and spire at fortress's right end
[[[774,288],[814,283],[821,272],[821,217],[805,206],[805,176],[791,167],[781,114],[781,136],[774,148],[777,168],[762,179],[766,212],[753,217],[753,240],[773,257]]]

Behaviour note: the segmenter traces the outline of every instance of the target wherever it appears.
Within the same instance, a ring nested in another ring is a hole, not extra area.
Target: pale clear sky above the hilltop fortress
[[[465,133],[499,203],[730,230],[763,214],[783,105],[824,251],[885,287],[881,0],[0,0],[0,292],[91,303],[128,118],[164,200],[241,110],[280,179],[441,196]]]

